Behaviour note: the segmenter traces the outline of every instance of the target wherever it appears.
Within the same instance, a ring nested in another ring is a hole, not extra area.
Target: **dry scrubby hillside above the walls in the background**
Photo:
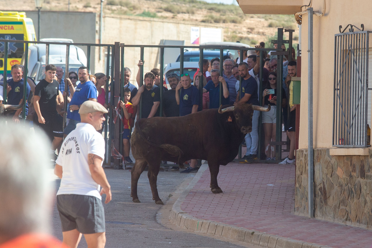
[[[100,0],[44,0],[43,10],[100,12]],[[20,7],[22,6],[22,7]],[[33,0],[1,0],[2,10],[36,10]],[[261,41],[268,46],[276,38],[277,28],[298,28],[293,16],[244,15],[238,6],[210,4],[198,0],[105,0],[104,15],[139,15],[155,18],[219,23],[225,28],[225,41],[241,41],[250,45]]]

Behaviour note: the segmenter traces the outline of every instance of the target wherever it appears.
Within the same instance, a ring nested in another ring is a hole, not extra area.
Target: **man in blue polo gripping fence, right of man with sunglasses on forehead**
[[[219,103],[219,82],[222,83],[222,99],[221,104],[230,104],[229,86],[224,77],[219,75],[219,70],[211,71],[212,80],[209,81],[203,88],[203,93],[209,92],[209,109],[218,109]]]

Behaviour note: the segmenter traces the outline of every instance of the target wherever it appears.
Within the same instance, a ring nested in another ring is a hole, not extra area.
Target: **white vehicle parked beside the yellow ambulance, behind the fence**
[[[46,45],[36,44],[28,48],[28,76],[35,80],[38,84],[40,80],[45,78],[45,62],[46,62]],[[22,59],[24,64],[24,58]],[[65,71],[66,65],[66,46],[65,45],[49,45],[49,64],[60,66]],[[87,65],[87,57],[80,47],[70,45],[70,57],[68,71],[75,71],[78,68]]]

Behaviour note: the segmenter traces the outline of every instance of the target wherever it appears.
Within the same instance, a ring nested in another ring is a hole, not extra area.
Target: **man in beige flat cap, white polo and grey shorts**
[[[100,103],[81,104],[81,122],[61,146],[54,174],[61,178],[57,209],[62,223],[63,243],[77,247],[84,234],[88,247],[105,247],[105,212],[101,202],[111,200],[110,184],[102,168],[105,141],[97,132],[108,111]],[[102,189],[100,190],[100,186]]]

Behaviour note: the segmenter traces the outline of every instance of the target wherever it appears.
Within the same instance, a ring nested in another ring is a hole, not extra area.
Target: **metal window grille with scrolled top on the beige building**
[[[348,27],[349,32],[344,32]],[[334,39],[333,146],[367,146],[369,33],[348,25]]]

